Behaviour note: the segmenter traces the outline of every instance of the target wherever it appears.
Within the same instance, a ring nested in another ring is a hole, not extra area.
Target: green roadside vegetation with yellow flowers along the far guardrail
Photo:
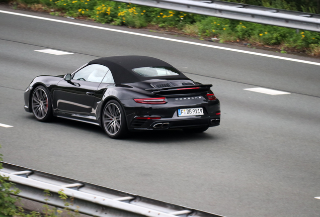
[[[8,0],[0,0],[2,2]],[[9,0],[10,1],[10,0]],[[318,13],[318,0],[234,0],[263,7]],[[13,0],[14,8],[48,12],[55,16],[88,19],[150,31],[171,31],[220,43],[276,48],[320,56],[320,34],[304,30],[228,20],[179,11],[150,8],[107,0]],[[319,4],[319,3],[318,3]]]

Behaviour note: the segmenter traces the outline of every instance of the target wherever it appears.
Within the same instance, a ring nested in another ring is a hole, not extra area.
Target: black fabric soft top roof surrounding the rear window
[[[143,80],[150,79],[186,79],[187,77],[181,73],[181,75],[174,76],[161,76],[161,77],[142,77],[134,73],[132,69],[141,68],[141,67],[173,67],[165,61],[147,57],[147,56],[114,56],[114,57],[104,57],[100,59],[92,60],[88,63],[91,64],[100,64],[107,66],[113,76],[115,83],[134,83]],[[173,67],[174,68],[174,67]],[[179,71],[179,70],[178,70]]]

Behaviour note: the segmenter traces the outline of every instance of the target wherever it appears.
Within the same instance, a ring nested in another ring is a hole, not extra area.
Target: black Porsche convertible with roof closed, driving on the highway
[[[128,130],[196,133],[220,124],[211,86],[152,57],[106,57],[71,74],[34,78],[24,108],[41,122],[55,116],[99,125],[111,138]]]

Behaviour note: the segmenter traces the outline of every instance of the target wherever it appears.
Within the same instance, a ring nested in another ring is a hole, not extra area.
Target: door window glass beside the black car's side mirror
[[[99,64],[88,65],[77,71],[73,78],[74,80],[84,80],[91,82],[101,82],[109,68]]]

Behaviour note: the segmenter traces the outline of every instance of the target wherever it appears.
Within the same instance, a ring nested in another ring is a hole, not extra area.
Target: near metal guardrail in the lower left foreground
[[[58,191],[73,197],[69,206],[79,213],[106,217],[222,217],[221,215],[154,200],[111,188],[69,179],[3,162],[0,175],[10,178],[21,192],[19,197],[63,208]],[[44,190],[51,196],[45,201]]]

